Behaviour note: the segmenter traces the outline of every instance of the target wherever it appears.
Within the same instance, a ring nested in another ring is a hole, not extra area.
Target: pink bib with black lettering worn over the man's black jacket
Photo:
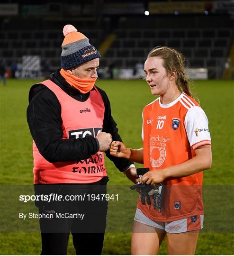
[[[51,80],[40,82],[54,92],[61,105],[63,139],[96,137],[102,130],[105,106],[96,87],[87,101],[73,99]],[[78,154],[78,152],[77,152]],[[34,184],[93,183],[107,176],[103,152],[77,162],[49,163],[33,142]]]

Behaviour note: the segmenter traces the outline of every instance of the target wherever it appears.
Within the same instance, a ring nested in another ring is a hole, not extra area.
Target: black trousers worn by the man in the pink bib
[[[62,196],[62,200],[36,201],[41,215],[41,255],[66,255],[70,232],[77,255],[101,254],[108,208],[103,195],[108,180],[104,177],[91,184],[34,185],[35,195]]]

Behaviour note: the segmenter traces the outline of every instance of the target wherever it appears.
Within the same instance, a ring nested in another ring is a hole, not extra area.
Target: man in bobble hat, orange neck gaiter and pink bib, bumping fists
[[[63,35],[61,68],[31,87],[27,108],[35,194],[44,196],[36,201],[45,216],[40,219],[41,254],[65,255],[72,232],[76,254],[100,255],[108,201],[89,201],[88,195],[106,194],[103,152],[130,180],[138,180],[133,162],[109,153],[112,139],[121,137],[107,94],[95,86],[98,50],[72,25],[63,28]]]

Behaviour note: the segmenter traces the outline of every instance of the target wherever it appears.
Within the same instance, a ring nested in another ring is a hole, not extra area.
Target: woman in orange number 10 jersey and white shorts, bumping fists
[[[160,96],[143,110],[144,148],[130,149],[113,141],[110,150],[111,155],[149,168],[139,186],[153,186],[153,192],[152,187],[143,191],[150,201],[142,201],[142,193],[139,197],[132,254],[157,254],[166,235],[168,254],[191,255],[203,227],[203,170],[212,162],[208,120],[189,89],[183,55],[169,47],[153,48],[144,72],[152,94]],[[164,188],[162,210],[152,199],[157,183]]]

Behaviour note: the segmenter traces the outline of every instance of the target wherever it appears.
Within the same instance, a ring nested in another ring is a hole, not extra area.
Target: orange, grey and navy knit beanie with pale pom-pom
[[[89,39],[72,25],[63,27],[61,67],[71,69],[95,58],[100,58],[98,50],[91,46]]]

